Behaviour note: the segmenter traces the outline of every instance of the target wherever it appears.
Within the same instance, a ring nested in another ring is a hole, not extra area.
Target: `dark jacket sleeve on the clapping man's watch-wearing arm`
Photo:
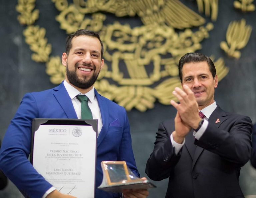
[[[210,123],[195,144],[239,166],[251,156],[252,121],[248,116],[233,114],[219,128]]]

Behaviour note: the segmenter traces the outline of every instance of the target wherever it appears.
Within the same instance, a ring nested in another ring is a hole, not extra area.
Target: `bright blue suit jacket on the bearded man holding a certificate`
[[[126,161],[139,177],[131,145],[129,121],[123,107],[99,95],[102,129],[97,138],[96,187],[102,182],[101,161]],[[41,198],[52,186],[28,161],[33,118],[76,118],[72,101],[63,85],[35,93],[28,93],[21,101],[6,131],[0,152],[0,169],[25,197]],[[93,182],[93,181],[92,181]],[[96,189],[96,198],[119,197]]]

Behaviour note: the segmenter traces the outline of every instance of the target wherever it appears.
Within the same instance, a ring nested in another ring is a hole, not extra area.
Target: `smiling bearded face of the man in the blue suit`
[[[81,93],[87,93],[104,65],[100,41],[86,35],[74,37],[69,53],[62,55],[62,64],[66,67],[66,81]]]

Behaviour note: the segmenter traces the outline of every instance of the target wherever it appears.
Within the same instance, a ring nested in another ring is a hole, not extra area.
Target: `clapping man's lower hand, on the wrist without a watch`
[[[191,130],[191,127],[182,121],[178,111],[174,119],[174,123],[175,123],[175,131],[172,132],[173,140],[179,144],[182,144],[185,136]]]

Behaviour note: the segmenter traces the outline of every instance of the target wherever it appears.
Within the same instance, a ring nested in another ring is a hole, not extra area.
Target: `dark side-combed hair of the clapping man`
[[[179,61],[178,69],[179,69],[179,77],[180,77],[181,83],[182,83],[183,65],[185,63],[191,63],[191,62],[196,63],[196,62],[203,62],[203,61],[207,62],[208,66],[209,66],[209,70],[212,73],[212,77],[214,78],[216,76],[216,69],[215,69],[214,63],[208,56],[205,56],[200,53],[187,53],[184,56],[182,56]]]

